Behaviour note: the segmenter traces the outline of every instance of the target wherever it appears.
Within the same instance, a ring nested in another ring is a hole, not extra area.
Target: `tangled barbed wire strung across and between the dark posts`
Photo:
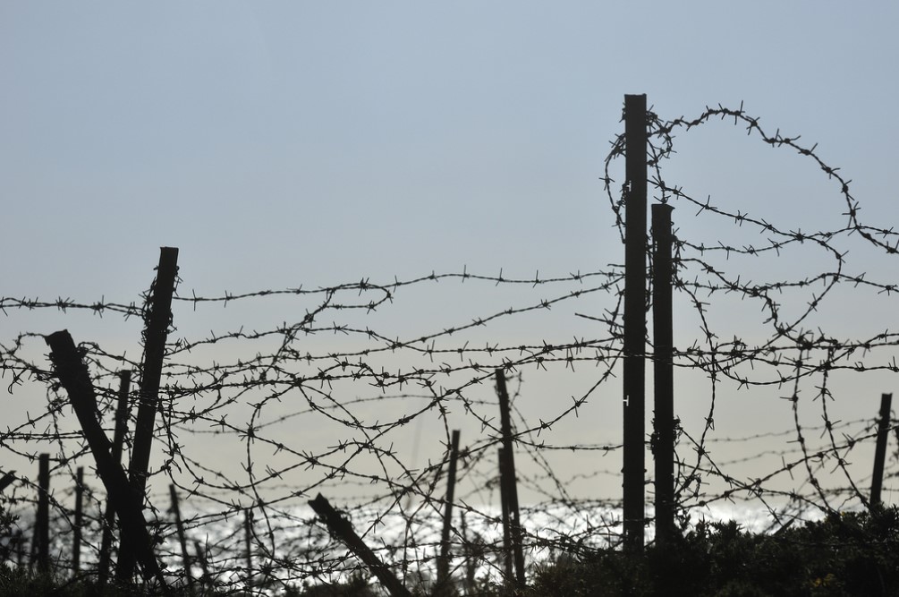
[[[725,239],[747,232],[761,238],[706,245],[675,234],[672,284],[681,309],[675,316],[689,312],[695,323],[689,333],[675,334],[673,351],[679,523],[685,528],[702,516],[752,516],[758,530],[773,531],[793,520],[868,507],[868,454],[877,422],[873,410],[855,406],[859,397],[846,388],[889,390],[899,373],[899,332],[885,324],[882,331],[841,337],[828,331],[822,314],[840,312],[847,296],[862,306],[886,299],[895,313],[896,282],[860,271],[868,262],[853,262],[847,247],[885,260],[889,272],[899,233],[862,223],[850,181],[823,161],[816,146],[800,145],[798,137],[779,130],[771,135],[742,105],[706,108],[693,119],[662,120],[650,110],[647,119],[648,183],[655,201],[675,207],[675,222],[708,218]],[[666,182],[663,166],[675,134],[715,120],[733,120],[761,143],[817,165],[845,204],[841,227],[790,230]],[[625,146],[624,135],[612,141],[603,176],[622,243],[626,181],[616,168]],[[798,247],[813,247],[826,265],[814,261],[816,271],[808,275],[764,281],[778,272],[767,270],[766,260],[786,259]],[[648,286],[648,250],[647,259]],[[738,260],[741,267],[750,264],[757,281],[743,278]],[[183,275],[189,281],[189,272]],[[450,574],[467,594],[502,582],[508,568],[496,458],[503,441],[497,370],[512,382],[512,439],[530,569],[551,554],[579,556],[618,546],[624,275],[614,263],[533,277],[464,268],[405,280],[221,295],[185,292],[179,281],[146,498],[150,533],[169,565],[165,575],[173,583],[185,578],[168,493],[174,486],[192,553],[188,567],[206,586],[263,594],[368,575],[370,566],[348,553],[308,507],[319,494],[352,521],[405,586],[431,586],[450,436],[460,429]],[[19,515],[7,528],[7,557],[29,559],[21,556],[22,542],[13,545],[13,530],[18,525],[23,537],[30,536],[39,494],[32,463],[49,452],[50,551],[59,569],[71,567],[72,479],[77,467],[96,469],[47,357],[45,337],[57,330],[43,329],[44,318],[64,314],[70,328],[80,329],[91,322],[99,328],[101,320],[104,329],[133,326],[147,319],[151,293],[134,302],[0,298],[4,318],[30,330],[0,340],[11,401],[0,432],[0,462],[4,471],[17,471],[2,499],[6,510]],[[427,306],[435,295],[446,308]],[[421,296],[424,306],[415,304]],[[757,311],[731,325],[727,316],[712,315],[719,302]],[[423,323],[410,321],[416,318]],[[200,332],[193,319],[222,327]],[[107,435],[120,372],[134,370],[139,377],[143,365],[111,337],[75,338]],[[645,345],[642,358],[652,361],[650,338]],[[133,404],[143,399],[137,390],[130,396]],[[774,416],[780,405],[786,410]],[[737,414],[727,414],[734,408]],[[747,432],[748,423],[730,428],[750,411],[761,411],[755,420],[767,426],[758,432]],[[134,419],[132,414],[130,427]],[[126,438],[126,452],[132,441]],[[646,449],[649,443],[646,437]],[[887,479],[899,476],[896,460],[888,463]],[[88,475],[84,501],[77,574],[93,575],[106,501],[96,477]],[[646,512],[652,539],[652,508]]]

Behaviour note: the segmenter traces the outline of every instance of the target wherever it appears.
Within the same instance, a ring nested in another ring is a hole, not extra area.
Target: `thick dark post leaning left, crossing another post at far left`
[[[115,504],[121,527],[135,538],[132,557],[138,557],[140,566],[147,579],[155,578],[163,592],[168,591],[165,578],[153,553],[153,544],[147,532],[147,521],[138,507],[137,496],[131,493],[125,471],[112,460],[111,444],[103,433],[102,426],[96,419],[97,400],[93,393],[93,384],[87,366],[66,330],[45,336],[50,347],[50,361],[56,370],[59,383],[66,389],[69,403],[78,417],[87,445],[93,453],[97,465],[97,474],[106,487]]]

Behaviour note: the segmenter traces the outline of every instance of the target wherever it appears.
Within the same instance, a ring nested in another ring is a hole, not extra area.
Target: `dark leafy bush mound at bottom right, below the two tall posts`
[[[565,597],[899,596],[899,511],[832,513],[776,535],[700,521],[642,557],[619,550],[556,558],[530,595]]]

